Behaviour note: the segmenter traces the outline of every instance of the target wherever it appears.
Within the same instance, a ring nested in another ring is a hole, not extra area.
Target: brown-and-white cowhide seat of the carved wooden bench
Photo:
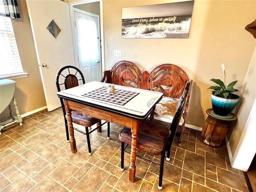
[[[171,123],[175,114],[179,99],[163,97],[158,104],[156,104],[154,119]],[[180,118],[179,125],[184,123],[184,119]]]

